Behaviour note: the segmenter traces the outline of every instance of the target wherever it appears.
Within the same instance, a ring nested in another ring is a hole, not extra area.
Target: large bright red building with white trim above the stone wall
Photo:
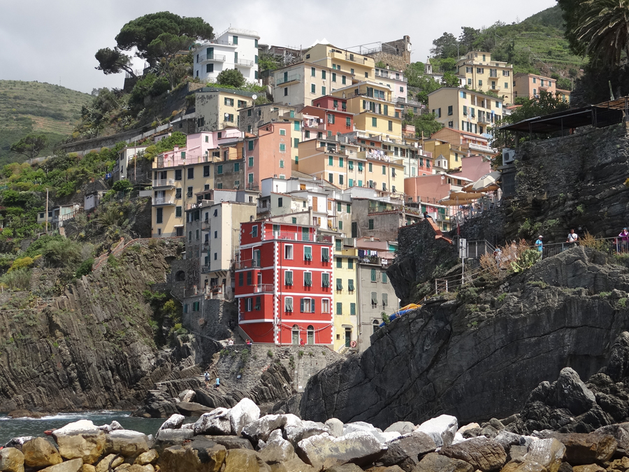
[[[254,343],[333,343],[332,243],[317,227],[240,225],[238,323]]]

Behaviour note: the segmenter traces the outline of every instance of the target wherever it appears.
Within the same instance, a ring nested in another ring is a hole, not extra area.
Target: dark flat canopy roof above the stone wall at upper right
[[[513,124],[505,124],[498,129],[504,131],[523,131],[528,133],[552,133],[563,129],[594,126],[598,128],[623,122],[623,115],[628,116],[629,96],[605,101],[597,105],[536,116]]]

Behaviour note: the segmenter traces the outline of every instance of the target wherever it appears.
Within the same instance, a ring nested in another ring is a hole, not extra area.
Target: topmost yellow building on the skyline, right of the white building
[[[373,79],[375,62],[373,57],[363,56],[335,48],[329,44],[316,44],[305,52],[305,61],[329,67],[333,71],[349,73],[357,80]]]

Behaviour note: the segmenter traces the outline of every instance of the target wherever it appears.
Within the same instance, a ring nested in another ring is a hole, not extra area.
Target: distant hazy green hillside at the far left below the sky
[[[0,80],[0,165],[22,162],[25,158],[10,152],[10,145],[29,133],[48,135],[49,155],[56,143],[73,131],[83,105],[92,96],[40,82]]]

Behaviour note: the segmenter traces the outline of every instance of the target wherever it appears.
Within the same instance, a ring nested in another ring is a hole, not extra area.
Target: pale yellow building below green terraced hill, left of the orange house
[[[465,85],[473,90],[491,90],[513,103],[513,64],[491,60],[491,53],[471,51],[456,63],[458,76],[465,78]]]

